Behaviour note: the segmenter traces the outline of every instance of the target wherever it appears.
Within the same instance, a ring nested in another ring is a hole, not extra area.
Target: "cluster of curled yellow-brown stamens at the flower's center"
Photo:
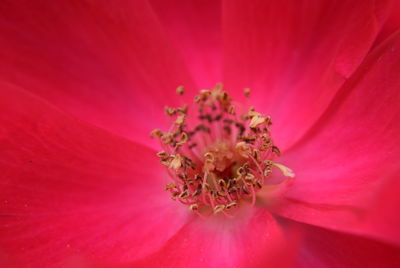
[[[177,93],[182,95],[183,87]],[[249,97],[250,90],[244,94]],[[174,118],[172,126],[151,133],[164,149],[157,155],[171,177],[166,190],[173,200],[201,216],[233,217],[241,202],[255,204],[272,167],[294,177],[292,170],[273,161],[280,151],[270,135],[269,116],[253,107],[240,113],[243,107],[233,102],[222,84],[201,90],[194,103],[197,118],[188,113],[187,105],[166,107],[166,114]]]

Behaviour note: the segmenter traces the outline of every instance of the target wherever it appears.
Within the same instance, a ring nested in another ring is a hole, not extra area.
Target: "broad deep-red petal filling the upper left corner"
[[[150,5],[2,1],[0,79],[115,134],[148,142],[192,80]]]

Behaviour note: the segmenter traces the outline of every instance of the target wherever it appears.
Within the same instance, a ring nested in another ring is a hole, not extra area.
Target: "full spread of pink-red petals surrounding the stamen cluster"
[[[397,10],[3,0],[0,266],[395,267]],[[296,177],[233,219],[202,219],[164,190],[149,132],[168,128],[165,105],[220,81],[271,116]]]

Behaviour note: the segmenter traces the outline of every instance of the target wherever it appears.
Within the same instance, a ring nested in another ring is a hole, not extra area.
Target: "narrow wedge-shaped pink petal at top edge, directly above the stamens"
[[[200,88],[222,81],[220,0],[151,0]]]

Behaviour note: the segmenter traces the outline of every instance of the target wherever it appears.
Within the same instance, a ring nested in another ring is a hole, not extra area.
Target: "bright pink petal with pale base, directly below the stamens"
[[[264,209],[240,219],[196,219],[137,267],[291,267],[293,243]],[[286,243],[287,242],[287,243]],[[135,266],[136,267],[136,266]]]

